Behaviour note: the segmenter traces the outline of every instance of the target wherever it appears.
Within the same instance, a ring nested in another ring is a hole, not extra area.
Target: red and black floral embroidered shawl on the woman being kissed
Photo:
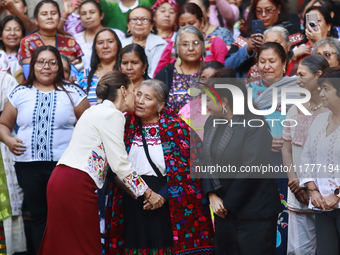
[[[192,145],[189,141],[189,127],[169,107],[166,107],[165,113],[161,115],[157,125],[159,125],[159,138],[164,154],[163,164],[165,163],[168,188],[168,215],[170,215],[171,221],[169,227],[173,245],[140,249],[128,247],[124,240],[124,233],[126,224],[129,224],[129,229],[131,229],[131,222],[127,223],[123,208],[126,203],[124,203],[118,188],[115,188],[109,196],[105,254],[214,254],[213,229],[207,200],[202,193],[201,181],[190,176],[190,156],[192,156],[191,159],[196,160],[196,154],[189,151],[190,145]],[[155,128],[157,134],[157,125],[149,127],[150,134],[152,128]],[[157,136],[156,134],[154,136]],[[139,137],[137,118],[134,115],[128,115],[125,125],[125,144],[128,152],[131,153],[134,150],[132,148],[135,143],[140,144]],[[197,135],[192,135],[191,141],[195,139],[197,147],[200,147]],[[157,139],[154,143],[158,144],[156,141]],[[150,213],[155,213],[157,210],[150,211]],[[137,224],[143,223],[135,221],[134,224],[138,229]],[[147,229],[144,231],[143,238],[150,238],[148,235],[153,234],[148,233]],[[133,237],[130,236],[130,238]],[[136,238],[142,238],[142,236]]]

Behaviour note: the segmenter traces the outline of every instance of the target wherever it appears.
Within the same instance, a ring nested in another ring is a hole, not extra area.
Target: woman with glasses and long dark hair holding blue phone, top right
[[[264,28],[281,25],[288,30],[292,47],[302,43],[303,35],[298,26],[290,23],[289,10],[283,0],[253,0],[247,21],[241,35],[235,40],[226,57],[225,66],[236,70],[237,76],[246,77],[250,68],[257,62],[256,52],[263,44],[263,35],[252,33],[253,20],[263,20]]]

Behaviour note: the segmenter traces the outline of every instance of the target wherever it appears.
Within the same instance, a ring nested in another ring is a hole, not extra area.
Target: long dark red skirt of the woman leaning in
[[[100,255],[97,186],[85,172],[58,165],[47,185],[47,226],[39,255]]]

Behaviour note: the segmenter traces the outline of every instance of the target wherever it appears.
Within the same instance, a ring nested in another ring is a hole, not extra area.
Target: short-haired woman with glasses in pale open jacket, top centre
[[[154,76],[159,59],[166,47],[166,41],[151,33],[153,29],[152,11],[144,6],[133,9],[128,14],[128,34],[130,37],[122,40],[122,46],[125,47],[131,43],[137,43],[145,50],[148,57],[148,74]]]

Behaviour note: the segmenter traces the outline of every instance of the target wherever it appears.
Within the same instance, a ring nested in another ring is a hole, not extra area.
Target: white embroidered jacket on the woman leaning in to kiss
[[[136,196],[143,195],[148,186],[127,160],[124,125],[123,113],[109,100],[87,109],[78,120],[69,147],[58,165],[88,173],[98,188],[103,187],[110,165]]]

